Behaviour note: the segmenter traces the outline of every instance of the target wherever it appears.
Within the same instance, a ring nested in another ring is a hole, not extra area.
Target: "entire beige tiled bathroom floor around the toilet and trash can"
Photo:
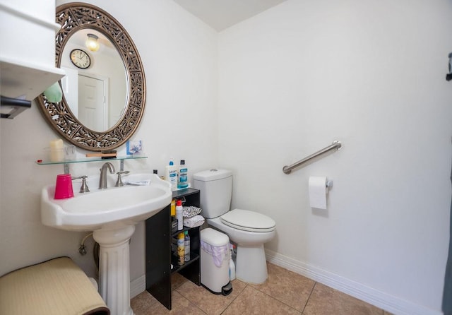
[[[262,285],[234,280],[232,287],[230,295],[214,295],[175,273],[171,311],[146,291],[131,299],[131,307],[136,315],[391,315],[271,263]]]

